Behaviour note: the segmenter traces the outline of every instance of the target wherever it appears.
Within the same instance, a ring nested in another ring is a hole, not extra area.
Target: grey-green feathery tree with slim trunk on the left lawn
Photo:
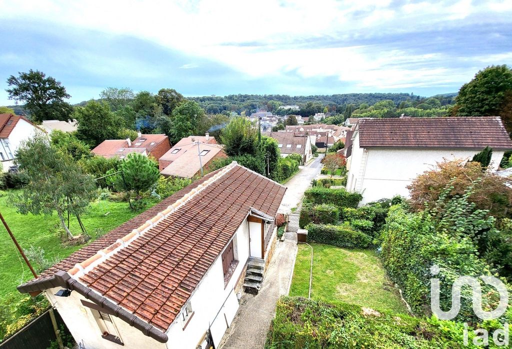
[[[80,215],[96,195],[96,184],[84,174],[70,155],[48,143],[44,134],[36,134],[23,142],[16,152],[16,164],[29,183],[15,194],[14,205],[19,213],[51,215],[54,211],[69,239],[73,234],[65,221],[66,211]]]

